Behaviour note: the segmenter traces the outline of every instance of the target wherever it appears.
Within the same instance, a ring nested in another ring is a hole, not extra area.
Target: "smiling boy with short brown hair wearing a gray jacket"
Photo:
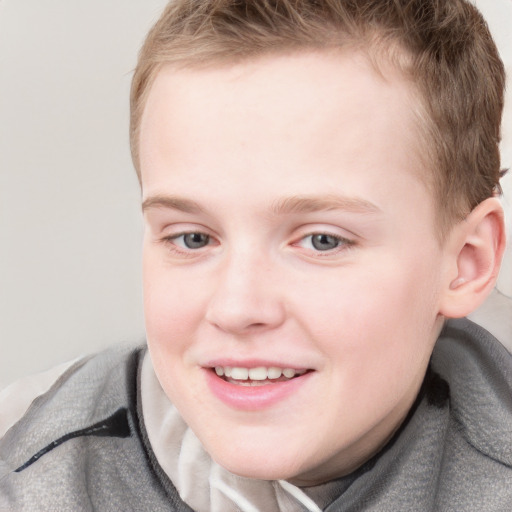
[[[0,444],[8,510],[508,510],[504,73],[464,0],[172,2],[132,88],[148,351]],[[1,507],[0,507],[1,508]]]

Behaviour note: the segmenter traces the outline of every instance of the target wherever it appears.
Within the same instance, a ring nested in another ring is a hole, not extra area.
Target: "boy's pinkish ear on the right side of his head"
[[[494,288],[505,250],[503,208],[496,198],[481,202],[445,243],[447,267],[440,314],[459,318],[474,311]]]

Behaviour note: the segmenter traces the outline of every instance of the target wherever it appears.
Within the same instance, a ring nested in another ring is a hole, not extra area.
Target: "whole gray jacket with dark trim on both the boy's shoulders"
[[[141,436],[139,359],[111,350],[83,361],[33,403],[0,441],[0,510],[190,510]],[[324,487],[338,495],[327,511],[512,510],[511,356],[485,330],[451,321],[431,369],[394,439]]]

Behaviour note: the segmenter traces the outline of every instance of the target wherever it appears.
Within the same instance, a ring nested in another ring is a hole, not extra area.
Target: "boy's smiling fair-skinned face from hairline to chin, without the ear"
[[[393,434],[440,328],[417,99],[356,54],[164,68],[141,125],[147,338],[211,456],[312,485]]]

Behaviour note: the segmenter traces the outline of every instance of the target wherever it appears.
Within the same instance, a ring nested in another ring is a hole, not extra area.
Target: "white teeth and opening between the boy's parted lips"
[[[311,370],[279,368],[277,366],[256,368],[243,368],[236,366],[216,366],[214,368],[218,377],[238,386],[265,386],[277,382],[286,382]]]

